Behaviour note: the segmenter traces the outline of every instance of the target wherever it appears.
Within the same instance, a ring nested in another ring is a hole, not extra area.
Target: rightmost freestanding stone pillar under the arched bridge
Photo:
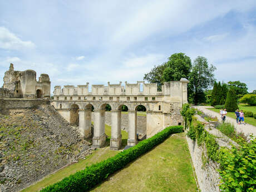
[[[137,111],[128,111],[129,129],[127,145],[134,146],[137,144]]]

